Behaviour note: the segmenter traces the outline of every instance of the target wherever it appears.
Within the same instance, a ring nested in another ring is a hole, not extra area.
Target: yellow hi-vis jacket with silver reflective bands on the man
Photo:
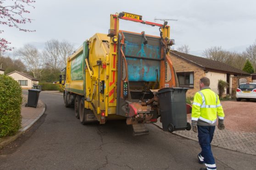
[[[224,112],[218,95],[210,88],[204,88],[196,92],[191,120],[198,121],[198,125],[214,126],[216,125],[217,115],[219,119],[224,119]]]

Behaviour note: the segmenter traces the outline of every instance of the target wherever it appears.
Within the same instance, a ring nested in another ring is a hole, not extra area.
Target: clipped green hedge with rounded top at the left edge
[[[0,138],[21,128],[22,89],[18,82],[0,74]]]

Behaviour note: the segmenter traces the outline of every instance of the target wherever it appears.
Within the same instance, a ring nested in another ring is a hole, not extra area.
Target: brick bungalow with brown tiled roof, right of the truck
[[[239,83],[251,82],[251,75],[236,69],[228,64],[214,61],[207,58],[171,51],[174,69],[177,73],[179,86],[188,87],[187,96],[194,96],[199,88],[201,77],[208,77],[211,81],[211,90],[218,94],[218,80],[223,80],[229,84],[225,94],[235,95],[235,90]]]

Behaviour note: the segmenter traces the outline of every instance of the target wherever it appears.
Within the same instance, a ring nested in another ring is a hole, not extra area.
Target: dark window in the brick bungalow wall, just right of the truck
[[[194,88],[194,72],[177,73],[180,87]]]

